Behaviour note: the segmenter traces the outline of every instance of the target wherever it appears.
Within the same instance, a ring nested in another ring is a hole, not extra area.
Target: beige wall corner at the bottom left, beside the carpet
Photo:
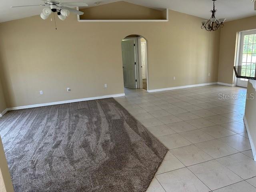
[[[0,192],[13,192],[12,180],[0,137]]]

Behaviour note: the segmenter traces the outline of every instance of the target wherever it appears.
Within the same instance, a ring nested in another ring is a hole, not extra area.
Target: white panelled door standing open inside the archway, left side
[[[135,42],[131,40],[122,41],[122,58],[124,72],[124,86],[137,88],[136,84],[136,58],[135,58]]]

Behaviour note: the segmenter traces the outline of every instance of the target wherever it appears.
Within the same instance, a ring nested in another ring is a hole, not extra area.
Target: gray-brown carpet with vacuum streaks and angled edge
[[[167,149],[113,98],[0,118],[15,192],[145,192]]]

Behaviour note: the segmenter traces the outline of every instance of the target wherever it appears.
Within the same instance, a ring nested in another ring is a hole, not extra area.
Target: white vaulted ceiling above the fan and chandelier
[[[96,6],[95,2],[101,4],[116,2],[118,0],[60,0],[67,1],[85,1],[89,6]],[[169,8],[178,12],[198,16],[201,18],[210,18],[212,9],[212,0],[125,0],[126,2],[155,8]],[[26,8],[10,8],[10,6],[42,4],[43,0],[1,0],[0,4],[0,22],[15,20],[19,18],[38,15],[42,12],[41,6]],[[251,0],[217,0],[216,1],[217,18],[227,18],[228,21],[245,18],[256,15],[254,5]],[[171,18],[170,18],[171,19]]]

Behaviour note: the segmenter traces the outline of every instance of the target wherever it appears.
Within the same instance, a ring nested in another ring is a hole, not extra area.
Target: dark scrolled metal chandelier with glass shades
[[[217,10],[215,9],[215,1],[216,0],[212,0],[213,1],[213,10],[210,10],[210,12],[212,13],[212,17],[209,20],[204,20],[202,21],[202,29],[205,29],[207,31],[216,31],[218,30],[220,27],[222,28],[224,26],[224,22],[226,19],[216,19],[215,17],[215,13],[217,12]]]

